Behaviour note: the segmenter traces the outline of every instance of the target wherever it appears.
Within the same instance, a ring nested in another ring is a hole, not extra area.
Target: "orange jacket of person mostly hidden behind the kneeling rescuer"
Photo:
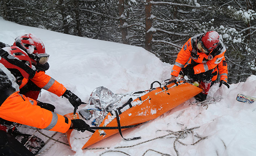
[[[228,66],[227,66],[227,62],[226,62],[225,57],[222,59],[222,62],[220,62],[218,64],[217,68],[219,69],[220,80],[224,80],[227,83],[227,80],[228,80]],[[211,79],[212,81],[215,81],[218,77],[218,69],[217,68],[215,68],[214,71],[212,72],[212,73],[217,72],[217,74],[212,77],[212,79]]]

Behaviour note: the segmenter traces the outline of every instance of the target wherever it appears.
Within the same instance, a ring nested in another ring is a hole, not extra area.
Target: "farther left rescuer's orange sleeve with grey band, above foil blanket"
[[[54,93],[57,96],[62,96],[67,90],[63,84],[58,83],[58,81],[54,80],[49,75],[46,75],[44,71],[36,72],[33,79],[30,80],[39,88],[48,90],[49,92]]]

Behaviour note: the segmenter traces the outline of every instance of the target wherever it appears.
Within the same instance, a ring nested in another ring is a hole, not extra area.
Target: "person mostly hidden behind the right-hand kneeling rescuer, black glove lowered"
[[[219,69],[219,70],[218,70]],[[227,83],[228,80],[228,67],[225,57],[222,59],[222,62],[218,64],[216,68],[214,68],[214,71],[212,72],[212,78],[211,78],[211,86],[215,83],[218,72],[220,74],[220,84],[219,87],[222,86],[222,84],[226,85],[227,88],[229,88],[229,84]]]

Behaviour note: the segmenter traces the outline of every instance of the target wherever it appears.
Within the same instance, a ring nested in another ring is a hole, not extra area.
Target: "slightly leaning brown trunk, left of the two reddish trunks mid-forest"
[[[119,10],[119,19],[120,19],[120,29],[121,29],[121,34],[122,34],[122,42],[124,44],[129,45],[128,41],[128,31],[127,31],[127,24],[126,23],[126,17],[124,15],[124,0],[119,0],[119,5],[118,5],[118,10]]]

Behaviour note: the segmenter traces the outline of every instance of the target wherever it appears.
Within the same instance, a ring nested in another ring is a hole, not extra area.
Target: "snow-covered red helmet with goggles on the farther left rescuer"
[[[44,43],[34,34],[24,34],[15,38],[14,46],[24,50],[33,64],[45,64],[49,59],[49,54],[45,52]]]

